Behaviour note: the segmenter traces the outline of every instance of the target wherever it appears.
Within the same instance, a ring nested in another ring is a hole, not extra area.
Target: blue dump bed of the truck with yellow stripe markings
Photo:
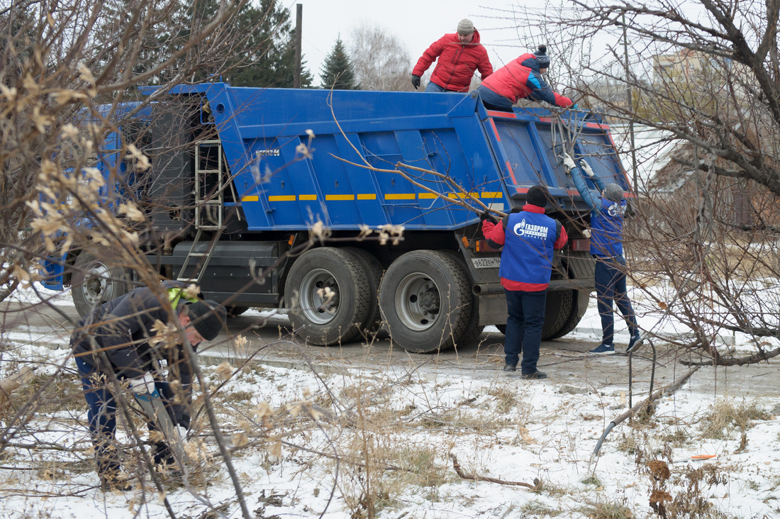
[[[306,229],[317,220],[331,229],[410,230],[476,222],[476,213],[431,190],[462,193],[429,173],[401,168],[415,185],[392,172],[399,163],[445,174],[503,211],[522,204],[540,182],[562,210],[584,208],[560,160],[564,149],[586,156],[605,182],[628,188],[607,126],[586,112],[495,112],[469,94],[228,84],[182,86],[171,94],[200,98],[213,116],[250,231]],[[302,155],[307,146],[310,154]]]

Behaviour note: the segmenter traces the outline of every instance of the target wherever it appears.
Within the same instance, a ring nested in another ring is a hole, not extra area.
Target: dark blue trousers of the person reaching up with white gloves
[[[623,258],[596,258],[596,303],[598,315],[601,315],[601,342],[614,344],[615,316],[612,311],[612,301],[615,301],[620,313],[629,325],[629,333],[633,336],[639,331],[628,290],[626,290],[626,260]]]

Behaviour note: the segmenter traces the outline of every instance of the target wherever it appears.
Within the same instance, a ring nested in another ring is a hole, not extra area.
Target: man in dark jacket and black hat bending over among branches
[[[170,329],[169,318],[175,315],[187,342],[197,350],[198,344],[214,340],[225,328],[225,307],[188,295],[183,283],[166,281],[162,288],[167,301],[161,301],[160,290],[140,287],[102,304],[81,319],[70,337],[89,406],[97,475],[104,491],[132,488],[120,474],[115,446],[118,383],[129,386],[132,393],[161,396],[173,424],[180,427],[179,434],[186,435],[193,359],[180,338],[177,343],[175,338],[166,340],[159,335],[165,334],[165,325]],[[165,381],[160,361],[166,362],[167,380],[179,382],[179,394]],[[154,428],[151,423],[150,428]],[[168,445],[162,442],[154,444],[153,457],[155,464],[173,461]]]

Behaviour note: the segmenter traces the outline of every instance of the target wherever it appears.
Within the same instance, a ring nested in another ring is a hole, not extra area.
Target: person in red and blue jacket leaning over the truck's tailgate
[[[547,72],[550,58],[547,47],[540,45],[534,54],[523,54],[518,59],[495,71],[487,80],[483,80],[477,93],[480,94],[485,108],[512,112],[512,105],[518,99],[546,101],[561,108],[577,108],[569,98],[556,94],[541,75]]]

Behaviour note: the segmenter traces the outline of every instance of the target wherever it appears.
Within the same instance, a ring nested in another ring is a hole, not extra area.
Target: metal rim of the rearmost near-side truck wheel
[[[407,275],[395,292],[395,311],[407,328],[422,332],[438,320],[441,296],[436,283],[422,272]]]

